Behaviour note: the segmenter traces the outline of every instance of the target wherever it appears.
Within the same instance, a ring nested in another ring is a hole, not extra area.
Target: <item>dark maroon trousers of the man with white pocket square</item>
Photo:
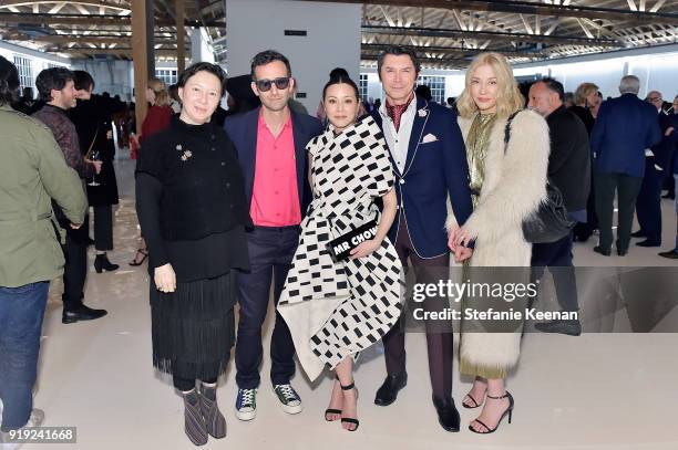
[[[442,257],[423,259],[417,255],[414,247],[410,241],[410,234],[403,214],[400,214],[400,229],[396,240],[396,251],[402,262],[403,268],[410,259],[412,268],[417,273],[418,283],[436,283],[439,280],[428,280],[427,268],[446,268],[450,265],[450,254]],[[417,269],[422,269],[417,271]],[[436,299],[430,299],[424,303],[424,310],[444,310],[446,303]],[[405,347],[404,331],[401,324],[403,317],[393,325],[390,332],[383,336],[383,349],[386,356],[387,374],[401,375],[405,371]],[[429,375],[431,377],[431,388],[433,396],[446,399],[452,396],[452,353],[453,335],[451,331],[433,331],[427,323],[427,349],[429,354]]]

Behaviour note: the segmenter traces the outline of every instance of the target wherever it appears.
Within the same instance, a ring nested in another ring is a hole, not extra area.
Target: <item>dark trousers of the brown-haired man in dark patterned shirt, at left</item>
[[[65,265],[63,266],[63,307],[73,311],[82,305],[84,283],[88,276],[88,244],[71,233],[66,233],[63,245]]]

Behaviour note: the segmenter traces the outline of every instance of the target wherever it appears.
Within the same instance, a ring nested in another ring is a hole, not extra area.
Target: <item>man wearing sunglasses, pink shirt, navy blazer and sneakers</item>
[[[299,224],[311,200],[306,145],[320,134],[320,122],[289,109],[295,79],[287,57],[267,50],[251,60],[251,90],[261,106],[228,117],[224,124],[245,175],[245,193],[255,224],[247,236],[251,270],[239,274],[240,316],[236,345],[236,416],[251,420],[257,412],[261,325],[271,282],[277,304],[299,241]],[[276,312],[270,341],[270,380],[285,412],[301,411],[290,385],[295,346],[287,324]]]

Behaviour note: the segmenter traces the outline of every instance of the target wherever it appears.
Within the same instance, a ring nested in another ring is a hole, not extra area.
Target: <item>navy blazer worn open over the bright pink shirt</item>
[[[235,144],[238,160],[245,177],[245,197],[247,208],[251,206],[251,191],[254,189],[255,165],[257,161],[257,127],[259,124],[260,106],[247,113],[229,116],[224,122],[224,128]],[[299,189],[299,208],[301,216],[312,200],[308,185],[308,164],[306,159],[306,145],[310,139],[322,132],[322,125],[316,117],[298,114],[290,109],[292,122],[292,136],[295,139],[295,156],[297,163],[297,188]]]

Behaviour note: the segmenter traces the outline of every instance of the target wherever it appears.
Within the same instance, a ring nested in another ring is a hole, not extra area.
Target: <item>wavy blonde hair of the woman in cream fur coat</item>
[[[477,112],[477,105],[473,101],[473,95],[471,94],[471,79],[473,77],[475,70],[482,65],[489,65],[492,67],[492,71],[496,76],[496,82],[499,85],[499,92],[496,95],[497,117],[508,117],[511,114],[525,106],[525,98],[517,87],[517,83],[513,77],[513,71],[511,70],[506,59],[500,53],[485,52],[475,56],[466,71],[464,92],[462,92],[456,101],[456,107],[460,116],[470,118]]]

